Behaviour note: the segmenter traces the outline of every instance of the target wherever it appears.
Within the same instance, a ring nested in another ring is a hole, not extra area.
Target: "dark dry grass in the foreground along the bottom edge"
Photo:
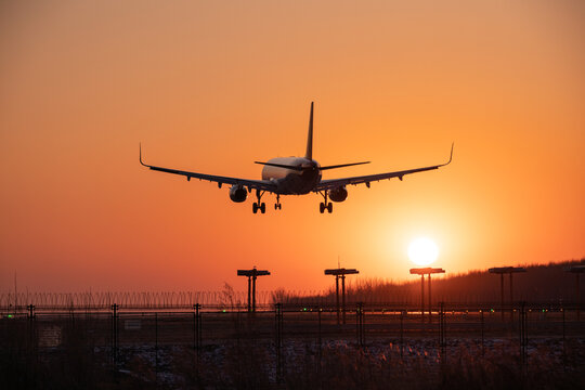
[[[366,348],[343,340],[285,339],[282,375],[271,338],[253,329],[238,339],[191,347],[125,346],[118,365],[95,347],[91,329],[69,324],[58,348],[37,349],[24,322],[1,324],[1,389],[582,389],[585,340],[531,340],[528,361],[512,340],[451,339],[446,356],[434,339],[410,338],[404,355],[388,339]],[[395,340],[394,340],[395,342]],[[157,363],[157,364],[155,364]]]

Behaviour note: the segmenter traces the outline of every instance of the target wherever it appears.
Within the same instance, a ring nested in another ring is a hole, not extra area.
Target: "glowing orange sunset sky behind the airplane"
[[[447,273],[585,256],[585,3],[4,1],[0,291],[411,280],[411,239]],[[253,160],[372,160],[325,178],[454,162],[252,214],[150,164],[259,179]]]

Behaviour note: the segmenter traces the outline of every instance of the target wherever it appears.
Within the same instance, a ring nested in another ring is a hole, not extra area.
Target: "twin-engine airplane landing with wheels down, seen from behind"
[[[141,145],[139,145],[140,164],[155,171],[183,176],[187,181],[195,178],[199,179],[199,181],[207,180],[210,182],[216,182],[220,188],[222,184],[230,184],[230,199],[235,203],[245,202],[248,194],[251,193],[252,190],[256,190],[257,202],[252,204],[253,213],[257,213],[259,210],[261,213],[266,211],[266,205],[261,202],[262,195],[265,193],[276,195],[276,203],[274,204],[275,210],[282,210],[283,208],[283,205],[281,204],[281,195],[306,195],[316,193],[323,196],[324,199],[324,202],[320,203],[318,205],[318,211],[324,213],[325,210],[327,210],[327,212],[330,213],[333,212],[333,203],[329,200],[337,203],[346,200],[348,197],[348,190],[346,188],[347,185],[365,184],[369,188],[369,183],[374,181],[392,178],[399,178],[399,180],[402,181],[402,178],[406,174],[439,169],[451,164],[451,160],[453,159],[452,144],[451,155],[448,161],[445,164],[395,172],[322,180],[322,172],[325,170],[369,164],[370,161],[322,167],[316,160],[313,159],[313,103],[314,102],[311,102],[309,134],[307,138],[307,153],[304,154],[304,157],[277,157],[265,162],[255,161],[255,164],[263,166],[262,180],[229,178],[147,165],[142,160]]]

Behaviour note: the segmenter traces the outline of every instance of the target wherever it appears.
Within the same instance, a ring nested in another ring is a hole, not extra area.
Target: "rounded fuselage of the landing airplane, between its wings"
[[[309,194],[321,181],[320,165],[307,157],[276,157],[268,162],[290,167],[302,167],[302,171],[265,165],[262,180],[276,184],[276,193],[281,195]],[[312,167],[313,169],[307,169]]]

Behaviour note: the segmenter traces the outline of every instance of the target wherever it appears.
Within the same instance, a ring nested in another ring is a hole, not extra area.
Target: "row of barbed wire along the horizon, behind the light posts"
[[[433,297],[434,298],[434,297]],[[522,299],[525,300],[525,299]],[[451,301],[465,304],[497,302],[497,295],[485,294],[438,294],[433,302]],[[193,309],[194,304],[213,308],[245,308],[247,291],[224,289],[220,291],[78,291],[78,292],[0,292],[0,310],[26,310],[35,306],[38,310],[109,310],[117,304],[121,310],[181,310]],[[308,307],[330,307],[336,303],[335,290],[260,290],[257,291],[257,307],[268,308],[274,303]],[[420,303],[419,292],[396,290],[392,294],[375,294],[368,290],[348,290],[346,302],[367,302],[369,304],[393,303],[416,306]]]

